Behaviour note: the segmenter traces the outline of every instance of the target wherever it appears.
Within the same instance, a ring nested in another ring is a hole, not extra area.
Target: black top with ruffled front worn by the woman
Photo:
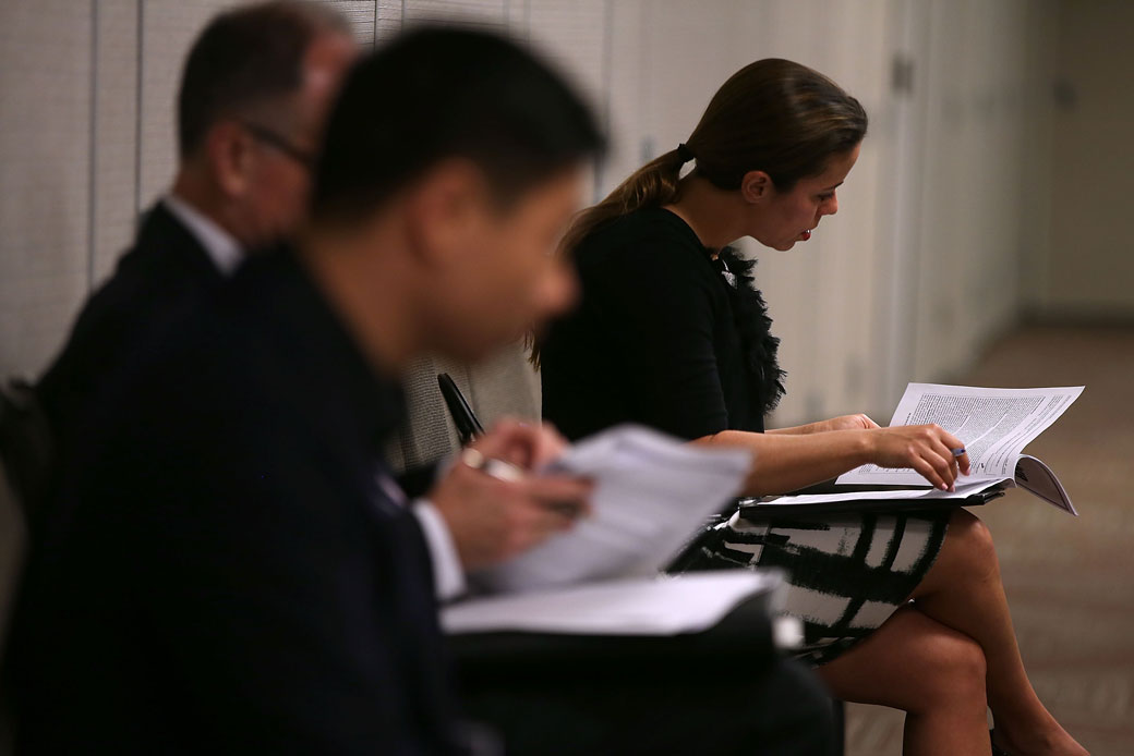
[[[784,391],[778,339],[753,262],[712,252],[660,207],[587,237],[581,301],[541,340],[544,419],[572,440],[624,422],[684,439],[763,431]]]

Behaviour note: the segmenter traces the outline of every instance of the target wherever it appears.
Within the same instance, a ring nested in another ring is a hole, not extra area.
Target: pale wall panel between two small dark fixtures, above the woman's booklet
[[[933,2],[914,379],[963,369],[1019,307],[1023,3]],[[1029,158],[1031,159],[1031,158]]]

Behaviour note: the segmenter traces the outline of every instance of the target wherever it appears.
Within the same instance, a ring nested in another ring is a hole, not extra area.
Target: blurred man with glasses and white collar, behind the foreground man
[[[303,219],[327,109],[355,56],[346,19],[313,2],[237,8],[201,33],[178,93],[174,185],[37,387],[65,442],[145,334],[211,300],[245,252]]]

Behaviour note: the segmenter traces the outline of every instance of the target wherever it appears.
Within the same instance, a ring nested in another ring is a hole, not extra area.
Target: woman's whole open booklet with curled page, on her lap
[[[852,501],[911,500],[916,503],[966,500],[993,487],[1021,487],[1077,515],[1070,496],[1050,467],[1023,453],[1083,392],[1083,387],[1053,389],[981,389],[964,385],[911,383],[890,425],[937,423],[960,439],[971,474],[958,478],[956,491],[925,489],[912,469],[864,465],[840,475],[835,490],[822,494],[780,496],[764,506],[832,504]],[[837,492],[843,485],[844,493]],[[853,486],[853,489],[852,489]],[[871,490],[872,486],[879,486]],[[902,486],[895,490],[892,486]],[[865,489],[865,490],[864,490]]]

